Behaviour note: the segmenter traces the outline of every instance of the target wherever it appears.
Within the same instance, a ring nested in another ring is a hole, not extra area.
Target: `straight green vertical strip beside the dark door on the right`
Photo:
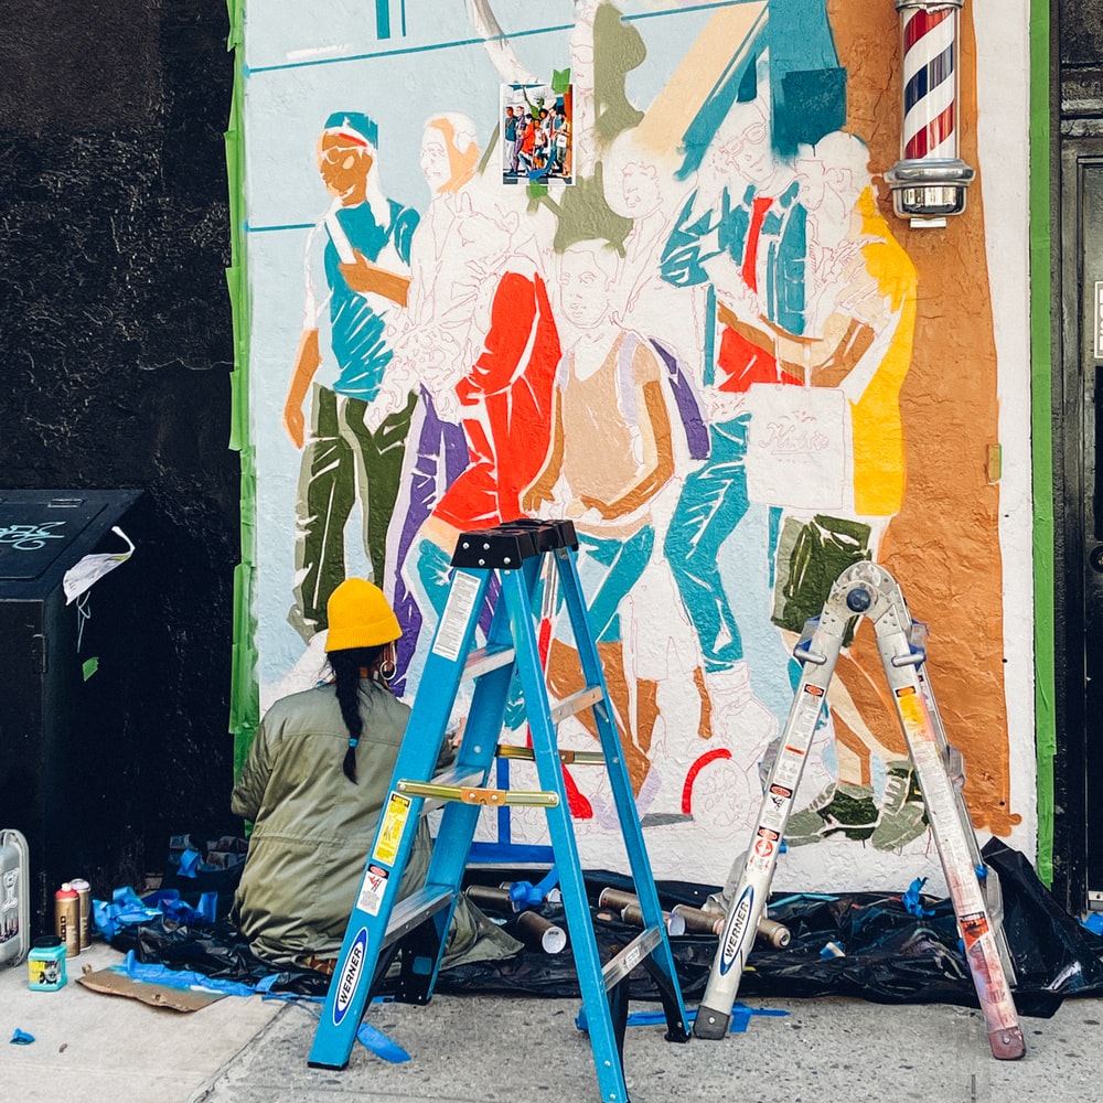
[[[1030,3],[1030,437],[1034,481],[1035,740],[1038,876],[1053,881],[1053,355],[1050,180],[1050,0]]]

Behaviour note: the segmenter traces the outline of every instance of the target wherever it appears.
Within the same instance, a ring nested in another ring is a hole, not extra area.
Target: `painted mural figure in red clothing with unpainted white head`
[[[521,516],[521,492],[535,478],[550,436],[559,335],[534,226],[511,203],[475,190],[463,197],[452,232],[464,286],[476,292],[464,299],[473,355],[452,388],[468,464],[421,525],[406,560],[406,585],[424,617],[443,610],[460,533]],[[447,307],[446,299],[438,301],[438,309]],[[419,667],[415,658],[410,678]]]

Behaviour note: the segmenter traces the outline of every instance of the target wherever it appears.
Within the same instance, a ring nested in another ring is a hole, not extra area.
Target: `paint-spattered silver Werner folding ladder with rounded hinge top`
[[[827,688],[844,633],[857,617],[868,617],[874,623],[877,649],[922,791],[992,1052],[1002,1060],[1014,1060],[1022,1057],[1026,1047],[1010,994],[1015,977],[1002,924],[999,881],[981,857],[961,792],[961,756],[946,741],[927,678],[925,625],[911,619],[900,587],[875,563],[854,564],[839,575],[823,613],[808,622],[793,651],[802,665],[801,681],[697,1010],[694,1035],[718,1039],[727,1034],[812,738],[827,705]]]

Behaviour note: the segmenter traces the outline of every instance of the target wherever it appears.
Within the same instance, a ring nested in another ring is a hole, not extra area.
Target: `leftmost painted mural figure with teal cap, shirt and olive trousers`
[[[385,323],[406,306],[418,216],[384,196],[377,149],[376,124],[356,111],[331,115],[318,141],[318,171],[333,203],[307,242],[302,335],[283,409],[303,453],[288,620],[308,642],[326,627],[326,601],[345,577],[345,527],[357,502],[362,547],[349,552],[363,553],[366,572],[385,578],[387,526],[416,401],[410,381],[388,371]]]

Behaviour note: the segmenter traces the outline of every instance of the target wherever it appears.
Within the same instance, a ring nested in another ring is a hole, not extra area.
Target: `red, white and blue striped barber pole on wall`
[[[903,45],[901,159],[885,179],[915,226],[965,210],[975,172],[957,154],[957,24],[965,0],[896,0]]]

